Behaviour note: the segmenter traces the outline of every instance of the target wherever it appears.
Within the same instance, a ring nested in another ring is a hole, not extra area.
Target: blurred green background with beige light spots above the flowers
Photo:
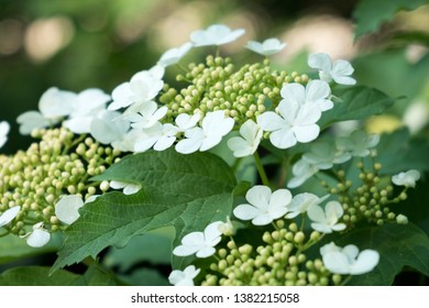
[[[2,152],[13,153],[30,142],[19,136],[15,119],[36,109],[47,88],[97,87],[110,94],[135,72],[153,66],[164,51],[187,42],[194,30],[211,23],[246,30],[244,37],[222,47],[231,56],[241,53],[239,63],[258,61],[242,48],[248,40],[270,36],[288,44],[273,58],[280,68],[306,73],[308,52],[352,61],[360,84],[405,97],[392,114],[371,123],[372,130],[403,123],[411,105],[426,106],[416,112],[427,119],[428,6],[400,12],[376,34],[355,40],[353,16],[359,4],[356,0],[0,0],[0,120],[12,124]],[[207,50],[197,48],[191,56],[200,59],[202,52]],[[167,70],[167,79],[173,73]]]

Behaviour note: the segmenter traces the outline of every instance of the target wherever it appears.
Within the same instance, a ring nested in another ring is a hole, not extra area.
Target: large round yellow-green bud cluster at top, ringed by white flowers
[[[248,119],[255,120],[267,107],[275,108],[285,82],[308,81],[307,75],[273,70],[267,59],[246,64],[234,72],[229,57],[209,55],[206,64],[191,63],[185,75],[177,75],[177,81],[187,81],[188,87],[176,90],[165,85],[160,97],[160,101],[168,107],[168,120],[180,113],[200,112],[205,116],[224,110],[226,116],[242,124]]]

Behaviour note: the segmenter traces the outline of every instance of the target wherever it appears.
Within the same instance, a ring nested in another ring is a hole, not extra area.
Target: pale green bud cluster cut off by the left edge
[[[65,128],[35,130],[41,139],[13,156],[0,156],[0,215],[20,207],[9,232],[25,234],[24,227],[43,222],[50,231],[62,229],[55,205],[64,195],[84,200],[97,191],[91,176],[102,173],[120,154],[86,135],[76,136]]]

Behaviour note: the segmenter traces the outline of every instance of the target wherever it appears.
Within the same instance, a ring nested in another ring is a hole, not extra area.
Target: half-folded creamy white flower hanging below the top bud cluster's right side
[[[248,120],[240,128],[241,136],[233,136],[228,140],[228,147],[233,151],[235,157],[244,157],[255,153],[260,145],[263,131],[253,122]]]

